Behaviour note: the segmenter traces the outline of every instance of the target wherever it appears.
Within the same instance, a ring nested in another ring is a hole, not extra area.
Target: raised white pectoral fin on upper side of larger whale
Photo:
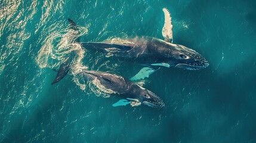
[[[165,41],[172,42],[172,24],[171,24],[171,14],[166,8],[163,8],[165,14],[165,24],[162,29],[162,35]]]

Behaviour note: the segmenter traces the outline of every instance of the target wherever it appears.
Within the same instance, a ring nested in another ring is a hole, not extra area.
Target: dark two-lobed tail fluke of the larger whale
[[[76,23],[68,18],[69,20],[69,28],[75,31],[78,31],[78,26],[76,26]],[[78,32],[76,32],[76,35],[73,35],[73,41],[72,42],[79,42],[78,38]],[[72,64],[73,58],[75,58],[75,53],[72,51],[69,53],[69,56],[64,60],[64,62],[61,64],[60,69],[57,71],[57,76],[55,77],[54,81],[51,83],[53,85],[54,83],[59,82],[61,79],[63,79],[64,76],[66,76],[67,73],[69,73],[70,66]]]

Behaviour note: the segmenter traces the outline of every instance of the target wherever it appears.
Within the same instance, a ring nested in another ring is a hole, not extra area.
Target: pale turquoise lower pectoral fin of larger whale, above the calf
[[[138,73],[134,76],[131,77],[132,81],[135,80],[141,80],[145,79],[146,77],[149,77],[150,74],[154,73],[156,70],[160,69],[160,67],[143,67]]]

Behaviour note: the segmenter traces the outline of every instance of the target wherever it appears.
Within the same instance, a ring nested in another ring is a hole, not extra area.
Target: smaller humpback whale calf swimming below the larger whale
[[[81,74],[88,81],[95,81],[101,91],[111,91],[111,93],[125,98],[125,100],[120,100],[113,104],[113,107],[127,104],[131,104],[132,106],[144,104],[153,108],[161,108],[165,105],[153,92],[116,74],[90,70],[80,71],[78,74]]]

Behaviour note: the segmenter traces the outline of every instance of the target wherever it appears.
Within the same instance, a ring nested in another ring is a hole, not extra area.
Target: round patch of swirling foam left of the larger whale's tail
[[[52,26],[51,30],[57,29],[57,27],[59,27],[59,25]],[[77,43],[73,43],[73,41],[75,41],[75,36],[84,35],[88,30],[85,27],[79,27],[79,30],[81,30],[81,32],[78,34],[76,30],[66,28],[54,31],[48,35],[47,38],[44,39],[42,48],[39,50],[38,57],[36,58],[36,63],[38,63],[39,67],[55,68],[70,52],[83,51],[81,46]],[[81,59],[82,58],[78,58],[78,60]],[[79,63],[79,61],[76,61],[76,63]]]

